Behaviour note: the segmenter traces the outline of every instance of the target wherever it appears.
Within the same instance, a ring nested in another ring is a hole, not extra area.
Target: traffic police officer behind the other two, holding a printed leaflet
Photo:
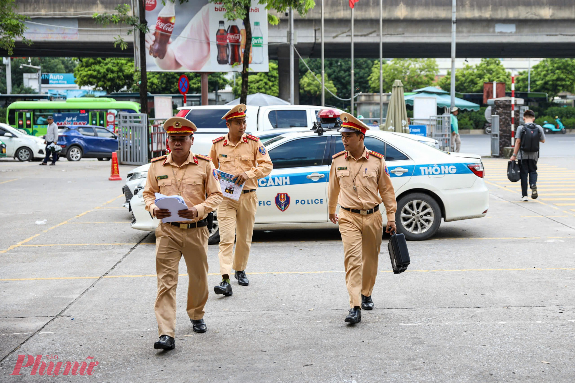
[[[222,281],[214,287],[216,294],[232,295],[229,273],[232,268],[237,283],[247,286],[246,266],[250,256],[252,234],[254,233],[255,212],[258,208],[258,179],[270,174],[273,165],[258,137],[246,134],[246,105],[239,104],[228,111],[221,119],[229,132],[212,141],[210,157],[221,171],[234,175],[236,184],[244,184],[240,199],[224,198],[217,210],[220,227],[220,273]],[[236,239],[236,249],[233,242]]]

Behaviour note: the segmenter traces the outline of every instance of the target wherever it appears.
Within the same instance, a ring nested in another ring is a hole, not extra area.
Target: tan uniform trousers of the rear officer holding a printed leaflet
[[[250,257],[251,238],[254,234],[255,211],[258,210],[256,192],[240,195],[240,199],[225,198],[217,208],[220,225],[220,274],[231,273],[232,268],[243,271]],[[233,242],[236,241],[236,249]]]

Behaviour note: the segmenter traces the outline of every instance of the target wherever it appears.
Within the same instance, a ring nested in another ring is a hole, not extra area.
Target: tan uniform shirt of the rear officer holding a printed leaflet
[[[259,138],[250,134],[243,134],[237,145],[229,140],[229,133],[224,137],[216,138],[210,150],[210,157],[214,166],[225,173],[234,176],[246,173],[249,179],[244,190],[257,189],[258,179],[271,173],[274,165]]]

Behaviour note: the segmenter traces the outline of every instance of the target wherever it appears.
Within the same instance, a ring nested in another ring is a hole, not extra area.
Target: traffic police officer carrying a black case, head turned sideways
[[[342,235],[351,307],[345,322],[358,323],[361,308],[373,309],[371,291],[383,231],[379,204],[384,203],[388,221],[385,232],[390,233],[396,230],[397,202],[384,156],[363,145],[369,127],[349,113],[342,113],[340,119],[339,131],[346,150],[333,155],[329,171],[329,220],[339,221]],[[338,203],[339,217],[335,211]]]

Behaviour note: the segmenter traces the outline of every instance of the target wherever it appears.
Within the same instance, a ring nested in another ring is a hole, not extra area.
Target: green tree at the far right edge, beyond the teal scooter
[[[527,91],[527,71],[515,78],[516,90]],[[531,68],[531,91],[546,92],[553,100],[559,92],[574,92],[575,59],[543,59]]]

